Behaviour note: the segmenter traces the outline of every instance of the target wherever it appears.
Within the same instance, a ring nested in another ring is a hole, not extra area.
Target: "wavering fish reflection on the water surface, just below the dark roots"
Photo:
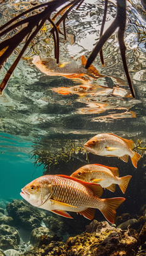
[[[55,58],[40,58],[40,56],[34,56],[32,63],[47,76],[63,76],[69,79],[81,79],[81,81],[88,81],[89,76],[103,77],[93,65],[88,69],[84,67],[87,63],[84,55],[81,57],[81,63],[71,60],[57,64]]]

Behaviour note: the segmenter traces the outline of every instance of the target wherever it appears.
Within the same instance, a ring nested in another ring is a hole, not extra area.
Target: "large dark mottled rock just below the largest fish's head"
[[[13,200],[6,205],[6,210],[8,215],[13,218],[15,227],[24,228],[28,231],[40,227],[40,222],[45,217],[45,213],[25,204],[22,200]]]

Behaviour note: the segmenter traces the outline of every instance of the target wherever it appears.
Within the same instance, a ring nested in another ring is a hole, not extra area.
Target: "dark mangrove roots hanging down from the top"
[[[2,3],[3,2],[4,1],[2,1]],[[13,62],[13,65],[11,65],[10,69],[6,73],[6,76],[4,77],[3,81],[0,84],[1,94],[6,84],[8,83],[8,80],[11,77],[13,70],[15,70],[15,67],[18,64],[18,61],[20,61],[20,58],[22,58],[22,55],[26,51],[29,44],[32,42],[34,36],[36,36],[37,33],[40,31],[40,29],[44,26],[46,20],[48,20],[52,26],[50,33],[52,34],[54,39],[55,59],[57,63],[59,63],[59,33],[64,35],[64,39],[66,40],[65,20],[68,17],[68,13],[75,6],[77,6],[77,9],[78,9],[80,5],[84,2],[84,0],[73,0],[69,2],[68,4],[63,6],[61,10],[55,13],[53,17],[51,17],[52,13],[55,12],[56,8],[59,8],[62,4],[65,4],[66,2],[67,0],[59,0],[59,1],[53,0],[47,3],[38,4],[38,5],[36,5],[37,3],[35,2],[31,3],[32,5],[34,5],[32,8],[30,8],[29,10],[26,10],[25,12],[19,13],[16,17],[14,17],[13,19],[3,24],[3,26],[1,26],[0,37],[2,41],[0,43],[0,68],[3,67],[4,63],[8,60],[8,58],[11,56],[12,52],[17,48],[17,46],[22,42],[24,43],[24,46],[22,47],[20,53],[18,54],[17,59]],[[105,20],[106,20],[107,6],[108,6],[108,0],[105,0],[105,12],[103,15],[103,22],[101,25],[100,39],[98,44],[92,51],[91,55],[89,56],[85,68],[90,67],[91,63],[96,58],[98,52],[100,52],[101,63],[103,67],[105,66],[105,63],[103,60],[102,47],[105,44],[106,40],[108,40],[108,38],[113,34],[115,29],[119,28],[118,39],[119,39],[119,46],[120,46],[120,54],[122,56],[122,63],[124,66],[126,77],[128,79],[128,84],[131,90],[131,94],[133,98],[135,98],[135,92],[133,90],[131,78],[128,72],[128,66],[126,63],[126,45],[124,44],[124,31],[126,28],[126,0],[117,0],[117,16],[113,21],[113,23],[110,25],[110,27],[103,34],[103,29],[104,29]],[[61,15],[61,18],[57,20],[56,23],[54,23],[54,20],[59,15]],[[63,24],[63,31],[64,31],[63,33],[59,29],[61,22]],[[14,34],[14,35],[11,36],[11,34],[12,35]],[[3,36],[5,36],[5,38]]]

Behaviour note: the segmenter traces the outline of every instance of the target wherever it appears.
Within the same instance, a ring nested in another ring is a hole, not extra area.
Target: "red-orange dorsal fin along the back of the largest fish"
[[[56,176],[59,176],[59,177],[65,178],[65,179],[69,179],[69,180],[74,180],[74,181],[84,185],[86,188],[91,189],[93,195],[97,196],[98,198],[100,198],[101,195],[103,194],[103,188],[101,188],[101,186],[99,184],[85,182],[83,180],[78,180],[74,177],[71,177],[71,176],[68,176],[68,175],[63,175],[63,174],[57,174]]]

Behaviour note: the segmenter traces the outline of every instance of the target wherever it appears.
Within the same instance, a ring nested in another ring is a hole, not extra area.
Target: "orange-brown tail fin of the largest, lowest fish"
[[[110,223],[114,223],[116,209],[119,207],[120,204],[122,204],[122,202],[124,202],[125,198],[115,197],[115,198],[106,198],[101,200],[103,201],[104,205],[103,205],[103,209],[100,209],[100,211],[103,213],[106,220],[108,220]]]

